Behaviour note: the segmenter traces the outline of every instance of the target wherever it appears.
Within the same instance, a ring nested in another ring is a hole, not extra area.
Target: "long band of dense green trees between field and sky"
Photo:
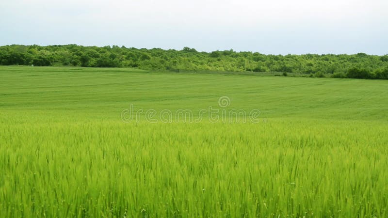
[[[0,65],[132,67],[146,70],[280,72],[309,77],[388,79],[388,55],[265,55],[233,50],[198,52],[194,48],[23,46],[0,47]]]

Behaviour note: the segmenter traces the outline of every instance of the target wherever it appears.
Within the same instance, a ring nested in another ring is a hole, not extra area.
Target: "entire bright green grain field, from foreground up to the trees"
[[[388,217],[388,81],[0,67],[0,217]],[[221,96],[230,105],[220,108]],[[259,109],[259,122],[122,111]],[[158,119],[157,119],[158,120]]]

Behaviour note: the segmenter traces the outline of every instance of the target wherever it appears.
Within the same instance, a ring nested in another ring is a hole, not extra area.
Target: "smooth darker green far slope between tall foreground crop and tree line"
[[[268,118],[379,120],[388,113],[384,80],[145,72],[0,67],[2,110],[117,120],[129,103],[135,109],[199,110],[226,95],[231,109],[260,109]]]

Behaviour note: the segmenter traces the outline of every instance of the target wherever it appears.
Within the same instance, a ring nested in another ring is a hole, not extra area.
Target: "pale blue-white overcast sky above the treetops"
[[[0,45],[388,53],[388,0],[0,0]]]

